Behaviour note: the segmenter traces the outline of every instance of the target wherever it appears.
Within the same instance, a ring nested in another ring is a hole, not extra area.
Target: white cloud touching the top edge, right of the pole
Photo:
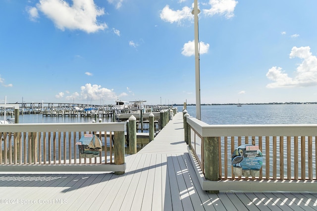
[[[232,18],[234,16],[234,8],[238,1],[235,0],[209,0],[211,5],[210,9],[203,9],[206,15],[224,15],[226,18]]]

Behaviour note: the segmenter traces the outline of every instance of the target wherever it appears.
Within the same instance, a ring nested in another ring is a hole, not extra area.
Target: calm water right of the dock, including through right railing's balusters
[[[178,108],[182,111],[182,107]],[[196,106],[188,106],[188,113],[196,117]],[[242,105],[238,106],[202,106],[201,107],[202,121],[210,125],[217,124],[317,124],[317,104],[302,104],[302,105]],[[272,137],[270,137],[269,148],[272,149]],[[257,139],[257,138],[256,138]],[[293,137],[291,139],[293,141]],[[306,140],[307,141],[307,140]],[[256,140],[257,142],[257,140]],[[224,147],[224,141],[221,139],[221,146]],[[279,146],[279,140],[277,140]],[[237,147],[237,146],[236,146]],[[263,146],[262,153],[266,155],[266,146]],[[308,145],[306,145],[306,154],[308,154]],[[315,152],[315,137],[313,137],[313,158],[316,158]],[[293,144],[291,145],[292,152],[294,151]],[[301,148],[298,149],[298,154],[301,155]],[[284,140],[284,156],[287,155],[286,141]],[[231,157],[230,150],[228,150],[229,158]],[[224,158],[224,151],[221,151],[221,157]],[[307,157],[306,157],[307,158]],[[284,163],[286,158],[284,157]],[[292,164],[294,158],[292,157]],[[301,164],[301,156],[298,158]],[[279,164],[279,152],[277,152],[276,163]],[[228,166],[231,165],[231,160],[228,159]],[[222,161],[222,172],[224,172],[224,161]],[[263,158],[263,175],[265,175],[266,161]],[[270,158],[270,169],[273,169],[272,157]],[[299,166],[299,169],[301,167]],[[308,169],[306,162],[306,169]],[[284,165],[284,176],[287,172],[287,165]],[[316,177],[316,159],[313,159],[313,172]],[[294,175],[294,169],[291,169]],[[272,171],[270,176],[272,176]]]

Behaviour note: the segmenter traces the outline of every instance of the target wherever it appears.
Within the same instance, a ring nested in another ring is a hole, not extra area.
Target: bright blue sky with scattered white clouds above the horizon
[[[201,103],[317,101],[316,0],[200,0]],[[1,0],[0,102],[196,103],[193,0]]]

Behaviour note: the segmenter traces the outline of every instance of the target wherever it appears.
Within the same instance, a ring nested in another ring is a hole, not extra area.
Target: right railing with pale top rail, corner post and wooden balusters
[[[211,180],[214,181],[263,182],[261,187],[231,184],[231,187],[219,185],[216,190],[305,191],[311,187],[316,190],[317,125],[208,125],[193,117],[187,117],[186,124],[187,142],[206,178],[210,177],[207,174],[213,173]],[[259,150],[262,156],[261,169],[234,167],[233,154],[244,144],[254,145]],[[214,166],[216,169],[212,168]],[[214,175],[215,171],[218,176]],[[267,185],[268,181],[276,183],[278,180],[284,183],[287,180],[292,184],[289,187],[284,184],[283,187],[280,184],[275,187]],[[307,183],[313,186],[299,189],[294,186],[295,181],[300,185]]]

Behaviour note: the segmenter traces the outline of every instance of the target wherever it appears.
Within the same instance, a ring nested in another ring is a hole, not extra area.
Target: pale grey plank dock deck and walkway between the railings
[[[177,113],[126,171],[0,174],[1,210],[316,211],[317,192],[203,191]],[[305,190],[299,190],[305,191]]]

